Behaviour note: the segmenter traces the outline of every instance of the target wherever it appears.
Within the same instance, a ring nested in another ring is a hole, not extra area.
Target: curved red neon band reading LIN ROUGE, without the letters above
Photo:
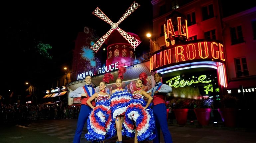
[[[171,66],[179,62],[219,60],[224,62],[223,45],[217,42],[197,42],[165,48],[150,57],[150,70]]]

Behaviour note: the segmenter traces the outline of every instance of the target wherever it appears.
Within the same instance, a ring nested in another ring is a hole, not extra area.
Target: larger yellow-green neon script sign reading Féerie
[[[188,81],[188,80],[181,80],[180,81],[180,78],[181,76],[176,76],[170,80],[168,80],[166,83],[169,83],[169,86],[170,87],[175,87],[175,88],[178,88],[178,87],[185,87],[185,86],[190,86],[192,84],[197,84],[197,83],[210,83],[211,80],[205,80],[206,79],[206,75],[201,75],[197,78],[196,81],[194,81],[194,79],[192,79],[191,81]],[[192,78],[195,78],[194,76],[192,76]]]

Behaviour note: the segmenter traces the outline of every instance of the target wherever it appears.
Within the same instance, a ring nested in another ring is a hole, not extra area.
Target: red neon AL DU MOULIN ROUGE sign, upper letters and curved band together
[[[179,62],[192,62],[198,59],[204,61],[212,61],[214,59],[225,61],[223,45],[215,41],[208,42],[205,40],[202,42],[189,42],[189,44],[177,45],[176,47],[173,46],[177,43],[175,40],[185,42],[189,38],[187,20],[183,20],[185,22],[182,23],[181,18],[178,17],[177,21],[178,31],[175,32],[172,20],[167,20],[167,26],[164,26],[166,48],[159,50],[160,52],[150,57],[151,71],[162,66],[171,66],[171,64]]]

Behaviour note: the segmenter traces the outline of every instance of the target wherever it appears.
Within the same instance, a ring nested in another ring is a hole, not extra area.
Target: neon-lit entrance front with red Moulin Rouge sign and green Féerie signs
[[[176,20],[178,31],[174,32],[172,19],[167,20],[166,47],[150,57],[152,76],[163,74],[163,83],[173,89],[171,97],[219,100],[227,87],[223,44],[210,39],[188,41],[187,21]]]

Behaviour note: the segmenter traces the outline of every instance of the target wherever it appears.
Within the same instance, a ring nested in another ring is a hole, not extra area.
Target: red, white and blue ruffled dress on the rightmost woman
[[[141,91],[140,91],[141,92]],[[133,94],[132,100],[127,106],[123,130],[127,137],[135,136],[135,126],[138,132],[138,141],[153,140],[156,135],[153,134],[155,128],[155,118],[150,107],[144,109],[147,105],[144,96],[139,93]]]

